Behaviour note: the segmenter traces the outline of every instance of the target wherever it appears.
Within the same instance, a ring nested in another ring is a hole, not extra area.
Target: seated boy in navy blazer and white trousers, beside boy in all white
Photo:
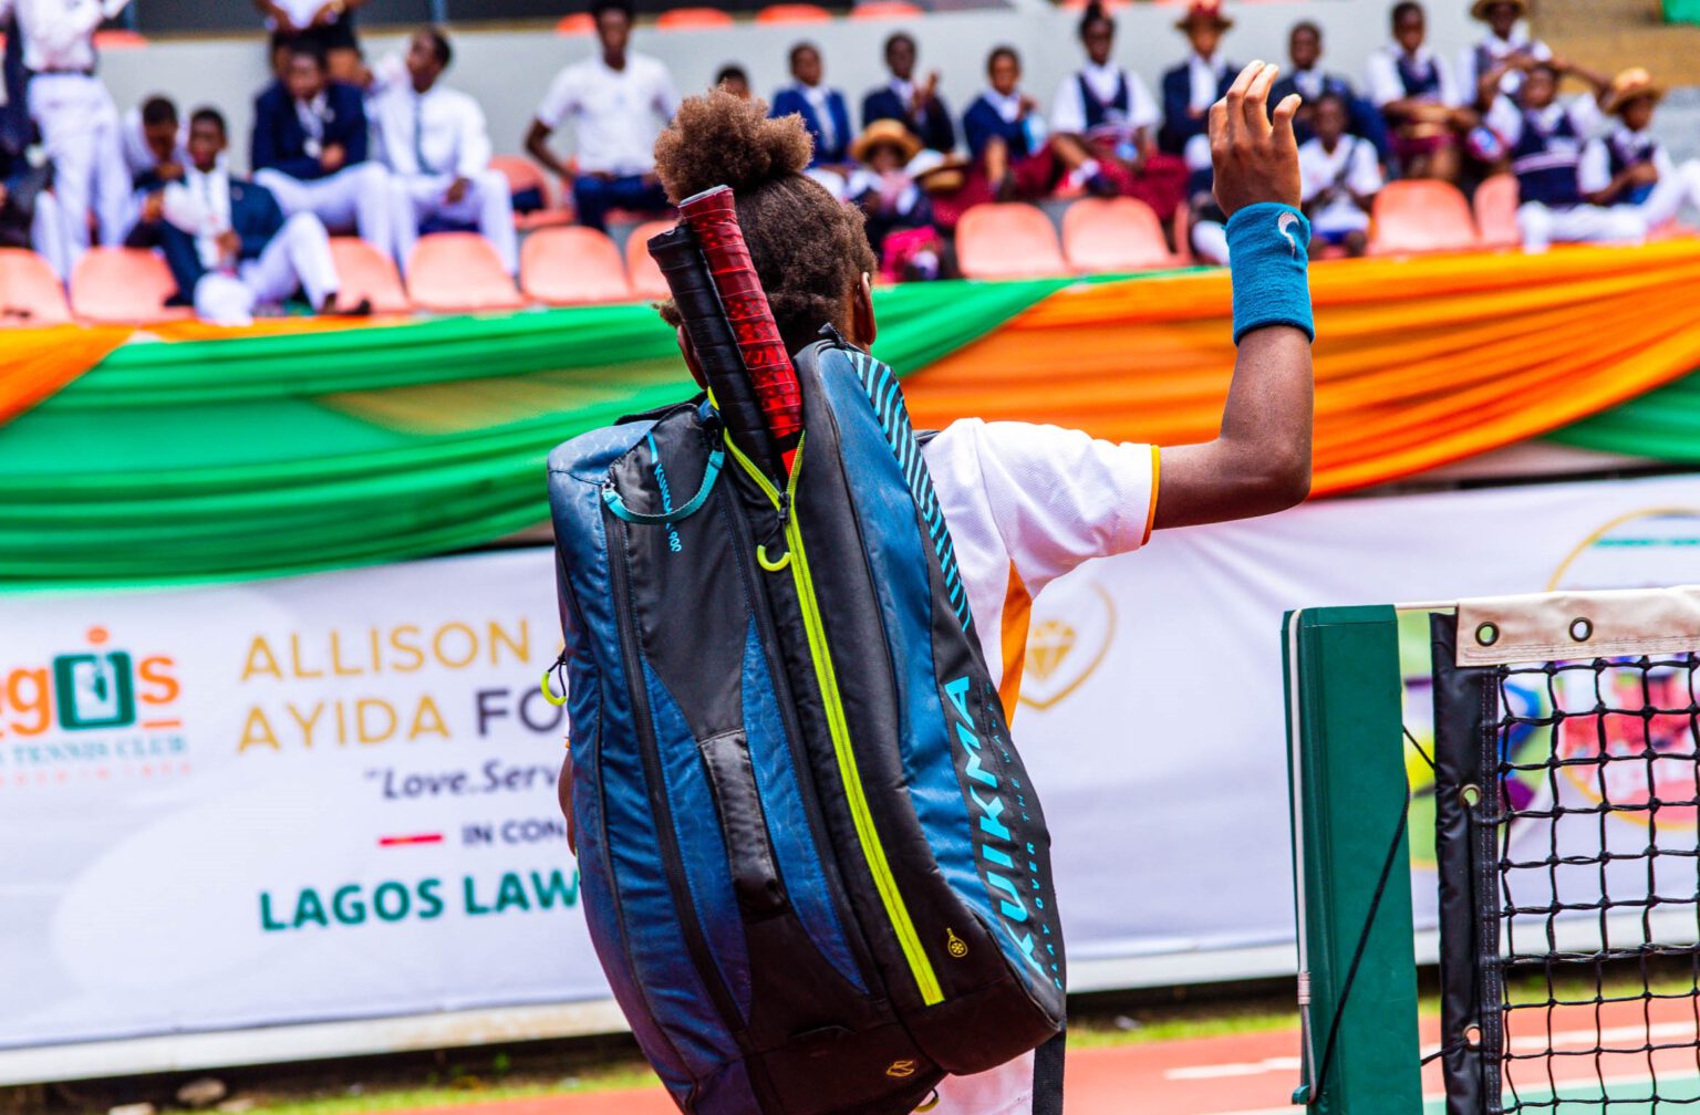
[[[360,90],[330,80],[320,48],[296,39],[284,80],[253,102],[250,161],[286,218],[311,212],[389,253],[389,172],[367,160],[367,131]]]

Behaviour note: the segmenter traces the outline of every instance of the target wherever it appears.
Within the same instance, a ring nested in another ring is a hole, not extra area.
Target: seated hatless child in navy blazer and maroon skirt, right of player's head
[[[959,207],[979,201],[1035,201],[1057,180],[1044,116],[1022,92],[1022,58],[1000,46],[986,58],[988,88],[962,116],[972,172]],[[952,223],[954,224],[954,223]]]

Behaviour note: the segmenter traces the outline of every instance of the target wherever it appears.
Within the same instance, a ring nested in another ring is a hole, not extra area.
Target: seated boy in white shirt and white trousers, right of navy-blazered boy
[[[405,76],[384,83],[367,100],[391,173],[396,262],[406,269],[422,228],[474,226],[512,275],[520,269],[513,197],[507,175],[490,168],[484,110],[440,82],[452,58],[440,31],[416,31],[408,42]]]

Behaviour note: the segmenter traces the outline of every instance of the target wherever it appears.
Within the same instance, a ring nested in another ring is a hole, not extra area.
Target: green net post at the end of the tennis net
[[[1294,1103],[1328,1115],[1418,1115],[1397,617],[1391,607],[1289,612],[1284,659],[1300,994],[1309,972],[1311,1003]]]

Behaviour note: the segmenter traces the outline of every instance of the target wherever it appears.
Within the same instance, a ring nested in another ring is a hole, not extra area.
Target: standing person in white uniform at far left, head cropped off
[[[95,29],[129,0],[17,0],[29,114],[53,161],[53,190],[65,209],[71,255],[88,246],[94,207],[100,243],[122,243],[131,221],[131,180],[112,95],[95,76]],[[71,260],[75,263],[75,258]]]

